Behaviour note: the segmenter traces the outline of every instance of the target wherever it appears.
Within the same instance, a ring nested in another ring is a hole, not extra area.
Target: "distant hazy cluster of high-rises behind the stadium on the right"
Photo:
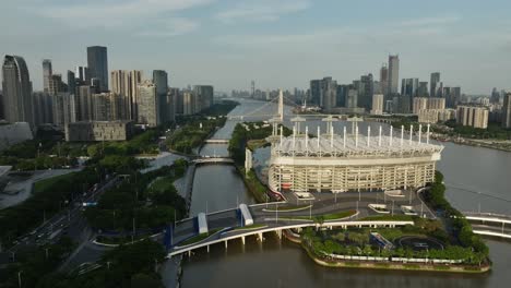
[[[391,55],[378,80],[371,73],[350,84],[338,84],[332,77],[311,80],[307,103],[329,113],[411,115],[416,98],[442,98],[447,108],[455,108],[461,96],[460,87],[443,86],[438,72],[431,73],[429,83],[402,79],[400,91],[400,58]]]

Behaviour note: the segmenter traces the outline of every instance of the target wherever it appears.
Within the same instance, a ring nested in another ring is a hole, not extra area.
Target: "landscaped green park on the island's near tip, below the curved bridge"
[[[480,265],[485,255],[460,245],[441,221],[412,217],[395,228],[311,229],[301,243],[316,259]]]

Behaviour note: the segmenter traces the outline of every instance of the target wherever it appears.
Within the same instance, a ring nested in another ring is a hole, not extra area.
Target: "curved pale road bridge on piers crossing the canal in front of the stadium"
[[[333,227],[397,227],[405,225],[413,225],[413,221],[394,221],[394,220],[358,220],[359,213],[355,215],[334,219],[324,220],[322,223],[314,221],[312,217],[316,217],[319,212],[312,213],[312,209],[297,211],[296,213],[302,213],[307,216],[295,216],[292,217],[285,211],[278,212],[278,208],[273,212],[268,206],[278,207],[278,205],[285,205],[284,202],[273,202],[268,204],[254,204],[250,205],[250,216],[253,223],[252,225],[245,226],[247,223],[243,219],[242,214],[238,208],[225,209],[219,212],[210,213],[205,216],[207,223],[207,229],[210,235],[205,237],[204,233],[199,235],[199,221],[197,217],[182,219],[176,223],[174,229],[169,232],[169,242],[166,243],[168,249],[168,256],[191,253],[191,251],[206,248],[210,250],[210,245],[224,243],[227,248],[228,242],[231,240],[240,239],[245,244],[247,237],[255,236],[260,241],[263,240],[263,233],[275,232],[280,238],[282,237],[283,230],[298,229],[301,230],[306,227],[324,227],[332,229]],[[364,214],[363,211],[360,211]],[[281,214],[281,216],[280,216]],[[282,216],[284,215],[284,216]],[[201,237],[204,236],[204,237]]]

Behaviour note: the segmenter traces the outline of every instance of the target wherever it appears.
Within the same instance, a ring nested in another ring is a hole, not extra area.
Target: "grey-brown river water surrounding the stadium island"
[[[230,112],[247,115],[264,103],[243,100]],[[287,111],[289,108],[286,107]],[[261,109],[271,113],[275,107]],[[289,115],[289,113],[288,113]],[[253,120],[246,118],[245,120]],[[228,139],[236,125],[228,120],[215,139]],[[288,122],[287,122],[288,123]],[[316,131],[320,121],[308,123]],[[344,123],[335,123],[341,131]],[[360,131],[367,123],[361,123]],[[377,131],[376,123],[369,123]],[[348,124],[348,129],[350,124]],[[324,127],[322,128],[324,129]],[[387,131],[387,130],[385,130]],[[461,211],[511,214],[511,153],[443,143],[438,169],[445,176],[447,196]],[[227,145],[205,145],[202,155],[227,155]],[[268,149],[258,153],[261,161]],[[211,165],[197,169],[191,213],[230,208],[236,203],[253,203],[231,166]],[[417,272],[334,269],[316,265],[297,244],[266,235],[265,241],[247,239],[243,247],[231,241],[197,251],[183,259],[181,287],[506,287],[511,283],[511,243],[488,240],[494,269],[485,275],[457,275]]]

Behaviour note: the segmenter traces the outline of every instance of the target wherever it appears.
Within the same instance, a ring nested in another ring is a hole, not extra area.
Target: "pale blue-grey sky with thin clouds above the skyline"
[[[2,0],[0,55],[25,58],[34,89],[108,47],[109,70],[166,70],[175,87],[307,88],[379,77],[389,53],[400,79],[466,94],[511,89],[509,0]],[[401,80],[400,80],[401,83]]]

